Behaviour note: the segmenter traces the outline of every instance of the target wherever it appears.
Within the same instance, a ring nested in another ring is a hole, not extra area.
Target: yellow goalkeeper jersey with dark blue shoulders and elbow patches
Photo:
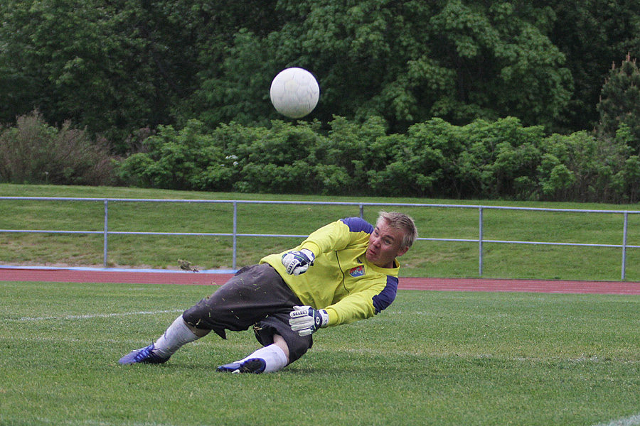
[[[304,305],[324,309],[329,324],[338,325],[373,317],[388,307],[398,291],[398,270],[369,263],[365,253],[373,226],[358,217],[332,222],[314,231],[294,250],[308,249],[316,256],[313,266],[300,275],[289,275],[282,255],[272,254],[269,263]]]

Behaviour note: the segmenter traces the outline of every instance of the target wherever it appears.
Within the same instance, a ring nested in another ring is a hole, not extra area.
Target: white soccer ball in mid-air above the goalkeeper
[[[271,103],[276,111],[299,119],[314,110],[320,98],[320,87],[314,75],[302,68],[287,68],[271,82]]]

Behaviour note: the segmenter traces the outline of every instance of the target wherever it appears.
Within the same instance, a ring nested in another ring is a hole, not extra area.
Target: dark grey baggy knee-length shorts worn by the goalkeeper
[[[240,332],[253,327],[260,344],[273,343],[279,334],[289,346],[289,362],[311,349],[311,336],[300,336],[289,327],[289,312],[302,302],[267,263],[245,266],[218,290],[183,313],[198,329],[213,330],[226,339],[225,330]]]

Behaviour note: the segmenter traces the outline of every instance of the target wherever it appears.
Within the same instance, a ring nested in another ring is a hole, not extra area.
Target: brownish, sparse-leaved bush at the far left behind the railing
[[[65,121],[50,127],[38,111],[0,129],[0,182],[60,185],[112,185],[114,170],[107,144],[91,141]]]

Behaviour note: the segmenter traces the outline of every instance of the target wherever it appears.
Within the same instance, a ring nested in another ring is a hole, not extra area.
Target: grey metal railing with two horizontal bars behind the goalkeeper
[[[244,234],[238,232],[238,204],[297,204],[297,205],[332,205],[332,206],[357,206],[360,217],[363,217],[364,208],[370,206],[377,207],[425,207],[425,208],[446,208],[446,209],[476,209],[478,210],[478,238],[477,239],[452,239],[452,238],[428,238],[420,237],[417,241],[450,241],[476,243],[479,246],[479,275],[483,273],[484,244],[531,244],[541,246],[582,246],[582,247],[609,247],[622,249],[622,273],[624,280],[626,275],[626,251],[627,249],[640,249],[640,246],[627,244],[627,231],[629,224],[629,214],[640,214],[636,210],[595,210],[595,209],[546,209],[537,207],[500,207],[486,205],[468,204],[420,204],[420,203],[384,203],[384,202],[319,202],[319,201],[260,201],[260,200],[164,200],[164,199],[140,199],[140,198],[82,198],[82,197],[0,197],[1,201],[69,201],[69,202],[102,202],[105,205],[104,228],[102,231],[69,231],[69,230],[38,230],[38,229],[0,229],[0,233],[31,233],[31,234],[102,234],[103,236],[103,260],[107,267],[107,249],[110,235],[175,235],[175,236],[230,236],[233,239],[233,269],[237,268],[236,257],[238,252],[238,237],[242,236],[262,236],[262,237],[296,237],[304,238],[306,235],[294,234]],[[233,204],[233,232],[212,233],[212,232],[149,232],[149,231],[110,231],[109,230],[109,204],[114,202],[156,202],[156,203],[205,203],[205,204]],[[496,240],[484,238],[484,212],[489,209],[494,210],[521,210],[536,212],[572,212],[572,213],[595,213],[595,214],[622,214],[622,244],[585,244],[566,243],[553,241],[513,241]]]

